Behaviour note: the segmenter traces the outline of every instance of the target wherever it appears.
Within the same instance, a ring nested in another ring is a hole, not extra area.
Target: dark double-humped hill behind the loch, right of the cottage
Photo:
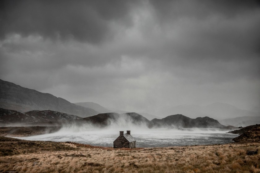
[[[163,119],[151,120],[150,127],[173,127],[173,128],[225,128],[217,120],[210,117],[198,117],[196,119],[176,114],[167,116]]]

